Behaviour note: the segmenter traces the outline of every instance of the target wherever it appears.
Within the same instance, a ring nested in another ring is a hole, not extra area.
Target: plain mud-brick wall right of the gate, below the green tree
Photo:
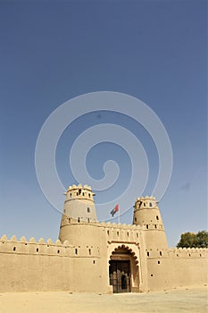
[[[207,249],[146,251],[149,291],[208,283]]]

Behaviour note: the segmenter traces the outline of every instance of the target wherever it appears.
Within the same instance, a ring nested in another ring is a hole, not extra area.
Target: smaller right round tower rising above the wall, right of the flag
[[[167,249],[162,217],[154,197],[137,198],[134,206],[133,224],[143,227],[146,249]]]

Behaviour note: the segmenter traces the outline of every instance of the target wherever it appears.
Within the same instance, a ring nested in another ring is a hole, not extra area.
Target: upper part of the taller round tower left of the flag
[[[69,224],[91,223],[97,222],[96,207],[91,187],[79,184],[78,186],[69,186],[64,193],[66,199],[64,201],[62,211],[62,221],[60,226],[59,239],[64,241],[67,239]]]

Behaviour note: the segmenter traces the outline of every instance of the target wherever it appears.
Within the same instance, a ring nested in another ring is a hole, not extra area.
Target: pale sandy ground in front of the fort
[[[2,292],[1,313],[207,313],[208,289],[179,288],[164,292],[96,294],[70,292]]]

